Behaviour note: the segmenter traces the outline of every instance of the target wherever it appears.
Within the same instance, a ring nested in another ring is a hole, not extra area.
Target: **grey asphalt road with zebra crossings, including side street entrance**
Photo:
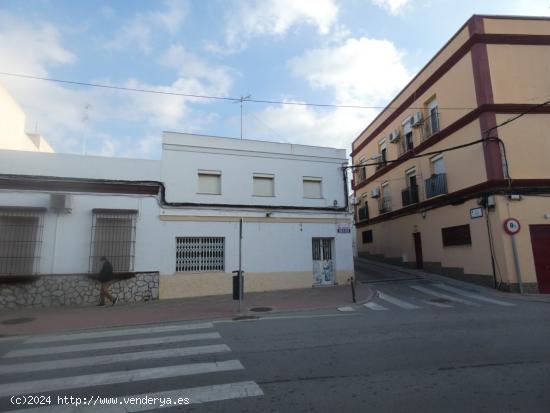
[[[119,396],[91,412],[550,411],[550,303],[377,271],[348,311],[2,340],[0,410],[38,394]]]

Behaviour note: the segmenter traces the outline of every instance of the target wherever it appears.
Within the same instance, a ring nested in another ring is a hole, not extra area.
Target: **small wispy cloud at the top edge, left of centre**
[[[103,43],[108,50],[139,48],[150,54],[153,50],[153,36],[161,30],[175,35],[187,15],[187,2],[184,0],[165,0],[164,9],[148,13],[137,13],[115,34],[115,37]]]

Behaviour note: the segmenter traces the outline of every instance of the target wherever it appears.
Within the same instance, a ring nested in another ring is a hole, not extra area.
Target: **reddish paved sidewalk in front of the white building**
[[[365,301],[368,287],[356,284],[356,296],[357,302]],[[230,295],[159,300],[114,307],[19,309],[0,314],[0,337],[266,314],[250,311],[254,307],[270,307],[272,311],[269,314],[277,311],[337,308],[350,304],[351,288],[342,285],[245,293],[241,313],[238,312],[238,301],[234,301]]]

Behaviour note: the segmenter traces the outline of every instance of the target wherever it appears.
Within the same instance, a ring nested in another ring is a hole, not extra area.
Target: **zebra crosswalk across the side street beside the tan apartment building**
[[[419,285],[414,283],[389,292],[385,289],[377,289],[373,300],[365,303],[364,307],[372,311],[388,311],[396,307],[401,310],[418,310],[428,307],[454,308],[460,305],[470,307],[515,306],[509,301],[487,297],[446,284]]]

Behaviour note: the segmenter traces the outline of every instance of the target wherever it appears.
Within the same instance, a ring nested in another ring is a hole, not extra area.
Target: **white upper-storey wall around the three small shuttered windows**
[[[345,150],[165,133],[162,180],[169,202],[339,207]],[[198,170],[221,171],[221,195],[197,194]],[[275,176],[275,196],[252,195],[254,173]],[[322,178],[322,199],[303,197],[303,177]]]

